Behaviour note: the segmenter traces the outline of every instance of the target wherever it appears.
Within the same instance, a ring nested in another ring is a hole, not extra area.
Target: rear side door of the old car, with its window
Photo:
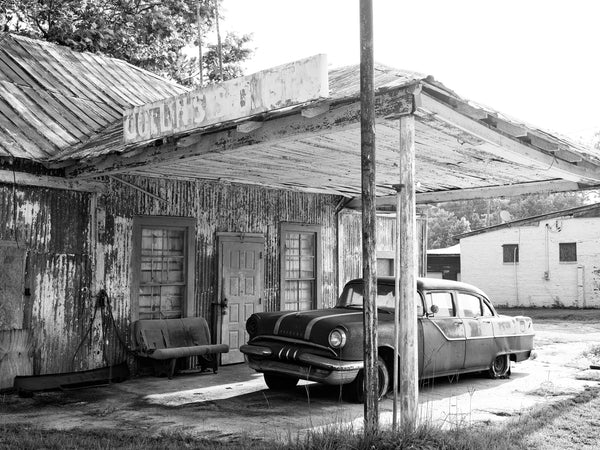
[[[457,292],[458,315],[465,326],[465,369],[488,368],[495,356],[493,313],[476,295]],[[486,305],[487,306],[487,305]]]

